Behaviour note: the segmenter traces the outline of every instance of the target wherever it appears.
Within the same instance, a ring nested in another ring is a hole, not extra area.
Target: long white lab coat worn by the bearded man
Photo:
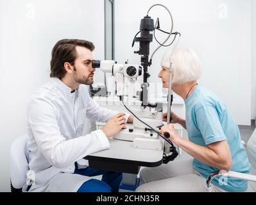
[[[60,79],[51,78],[40,87],[27,109],[28,161],[35,173],[30,192],[76,192],[91,179],[73,174],[74,162],[108,149],[110,144],[101,129],[82,136],[85,117],[107,122],[116,114],[94,102],[85,85],[71,93]],[[126,114],[126,120],[128,117]]]

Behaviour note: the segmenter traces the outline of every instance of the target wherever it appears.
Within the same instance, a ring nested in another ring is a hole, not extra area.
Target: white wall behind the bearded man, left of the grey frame
[[[26,133],[26,104],[49,80],[51,49],[62,38],[94,42],[103,59],[104,1],[0,0],[0,192],[10,191],[10,145]]]

